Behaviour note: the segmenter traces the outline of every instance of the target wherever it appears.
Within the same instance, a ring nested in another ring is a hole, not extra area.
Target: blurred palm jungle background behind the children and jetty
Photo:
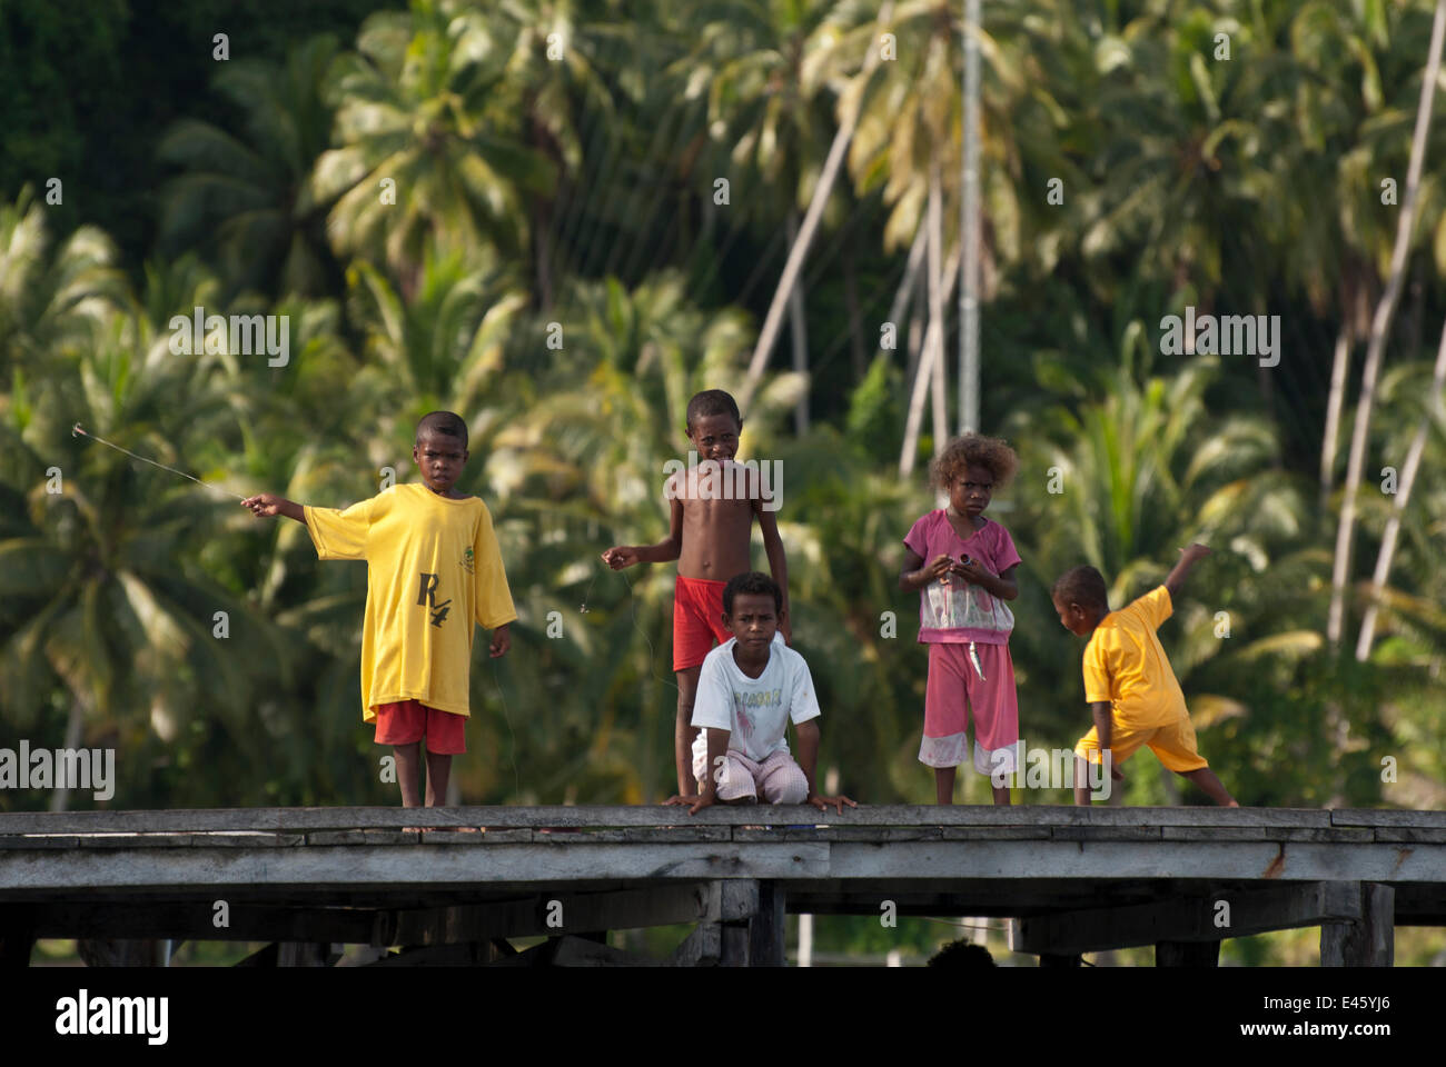
[[[977,428],[1021,457],[991,515],[1024,558],[1031,746],[1090,721],[1054,577],[1095,564],[1118,606],[1205,539],[1161,638],[1235,795],[1446,802],[1434,6],[983,4]],[[415,480],[412,428],[447,408],[522,616],[500,664],[479,635],[453,798],[656,802],[675,568],[599,554],[664,536],[684,406],[723,387],[740,458],[782,463],[823,769],[930,801],[898,571],[962,422],[962,9],[0,4],[0,747],[114,747],[110,807],[395,804],[360,721],[366,568],[69,431],[341,507]],[[286,315],[288,363],[172,354],[195,307]],[[1187,307],[1278,315],[1278,363],[1174,354]],[[1129,769],[1126,804],[1206,802]],[[0,791],[65,805],[94,801]],[[817,946],[960,933],[820,920]]]

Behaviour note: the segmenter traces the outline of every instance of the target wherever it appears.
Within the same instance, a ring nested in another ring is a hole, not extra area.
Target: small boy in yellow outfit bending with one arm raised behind
[[[1084,646],[1084,700],[1095,727],[1074,746],[1074,802],[1090,802],[1086,775],[1090,763],[1102,763],[1119,781],[1119,763],[1141,745],[1148,745],[1160,762],[1205,789],[1225,807],[1239,807],[1220,779],[1196,752],[1194,727],[1184,707],[1184,694],[1170,668],[1170,659],[1155,630],[1174,612],[1174,596],[1196,560],[1210,555],[1205,545],[1180,551],[1180,562],[1165,584],[1145,593],[1128,607],[1109,610],[1105,578],[1093,567],[1067,571],[1050,596],[1060,623]]]

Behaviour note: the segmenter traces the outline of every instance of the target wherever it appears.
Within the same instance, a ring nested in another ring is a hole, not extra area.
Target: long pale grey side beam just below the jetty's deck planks
[[[1264,879],[1446,882],[1446,846],[1316,841],[1164,841],[1071,837],[954,841],[674,841],[568,846],[317,844],[289,849],[0,850],[0,898],[16,892],[213,886],[528,885],[714,878]]]

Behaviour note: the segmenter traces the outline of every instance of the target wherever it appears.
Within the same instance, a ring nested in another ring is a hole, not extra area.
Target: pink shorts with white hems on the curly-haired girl
[[[1012,774],[1019,704],[1008,645],[930,643],[921,763],[959,766],[966,760],[966,704],[975,714],[975,769],[983,775]]]

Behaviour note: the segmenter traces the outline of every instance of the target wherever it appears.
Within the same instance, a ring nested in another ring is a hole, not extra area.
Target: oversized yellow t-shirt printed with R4
[[[318,558],[367,562],[362,720],[402,700],[470,714],[473,626],[518,617],[487,505],[409,484],[304,510]]]

